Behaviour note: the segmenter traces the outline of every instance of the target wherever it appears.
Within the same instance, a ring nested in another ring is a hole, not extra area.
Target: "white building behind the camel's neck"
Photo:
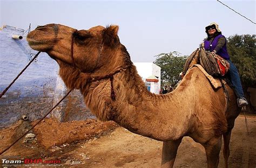
[[[159,94],[161,86],[161,68],[152,62],[134,62],[133,63],[138,71],[138,74],[142,76],[147,89]]]

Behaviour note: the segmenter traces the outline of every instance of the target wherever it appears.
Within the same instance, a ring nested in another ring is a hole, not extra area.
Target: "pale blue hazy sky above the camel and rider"
[[[256,1],[222,3],[256,22]],[[256,34],[256,26],[216,0],[208,1],[66,1],[0,0],[0,27],[27,30],[49,23],[78,30],[118,25],[120,42],[133,62],[153,62],[156,55],[178,51],[190,55],[216,22],[225,37]]]

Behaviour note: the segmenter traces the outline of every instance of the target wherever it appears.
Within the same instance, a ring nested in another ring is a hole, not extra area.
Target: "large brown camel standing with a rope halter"
[[[59,75],[70,89],[79,89],[84,102],[101,121],[163,141],[161,167],[173,167],[184,136],[204,146],[207,167],[217,167],[224,137],[225,167],[237,106],[233,90],[213,89],[193,67],[173,92],[150,93],[118,38],[117,25],[76,30],[60,24],[38,26],[28,34],[29,45],[46,52],[59,65]]]

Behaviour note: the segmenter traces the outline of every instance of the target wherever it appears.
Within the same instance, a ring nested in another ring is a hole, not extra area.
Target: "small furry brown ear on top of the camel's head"
[[[103,42],[106,45],[114,46],[119,42],[119,38],[117,36],[119,26],[117,25],[110,25],[107,26],[103,32]]]

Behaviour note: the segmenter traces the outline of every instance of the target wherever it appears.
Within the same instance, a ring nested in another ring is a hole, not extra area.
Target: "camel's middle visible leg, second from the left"
[[[216,168],[219,164],[219,154],[221,149],[221,137],[211,139],[207,144],[203,144],[207,157],[207,167]]]

